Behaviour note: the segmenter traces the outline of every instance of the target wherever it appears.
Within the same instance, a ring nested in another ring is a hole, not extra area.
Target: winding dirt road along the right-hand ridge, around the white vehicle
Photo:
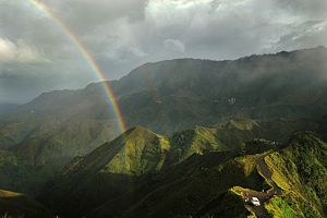
[[[268,153],[269,155],[271,153]],[[272,187],[266,192],[256,192],[256,191],[249,191],[245,193],[245,195],[251,198],[251,197],[257,197],[261,202],[261,206],[252,206],[252,205],[246,205],[254,214],[256,217],[259,218],[267,218],[271,217],[269,216],[268,211],[265,208],[265,203],[269,201],[274,195],[280,195],[281,190],[278,187],[278,185],[272,181],[271,175],[272,172],[269,170],[267,164],[265,162],[265,157],[263,156],[256,161],[256,167],[258,172],[266,179],[266,181],[269,183],[269,185]]]

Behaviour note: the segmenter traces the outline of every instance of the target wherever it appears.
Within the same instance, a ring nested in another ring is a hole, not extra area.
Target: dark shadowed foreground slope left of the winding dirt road
[[[193,155],[173,169],[97,208],[92,217],[246,217],[243,201],[228,191],[234,185],[262,189],[256,172],[259,156],[232,153]],[[232,172],[232,173],[231,173]]]

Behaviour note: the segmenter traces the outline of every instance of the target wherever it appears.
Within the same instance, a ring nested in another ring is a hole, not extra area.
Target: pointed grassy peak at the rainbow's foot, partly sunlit
[[[63,214],[73,207],[78,215],[132,189],[140,174],[160,170],[169,148],[165,137],[133,128],[72,162],[40,198]]]

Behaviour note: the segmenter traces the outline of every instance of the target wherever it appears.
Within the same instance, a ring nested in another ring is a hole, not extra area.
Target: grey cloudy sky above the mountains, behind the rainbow
[[[326,0],[39,0],[69,26],[107,80],[145,62],[237,59],[327,45]],[[51,17],[0,0],[0,102],[99,81]]]

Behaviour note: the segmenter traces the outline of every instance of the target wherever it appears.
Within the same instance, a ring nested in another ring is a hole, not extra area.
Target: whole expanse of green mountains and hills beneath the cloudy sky
[[[101,83],[41,94],[0,116],[0,187],[60,217],[324,217],[326,60],[319,47],[146,63],[102,82],[124,133]]]

